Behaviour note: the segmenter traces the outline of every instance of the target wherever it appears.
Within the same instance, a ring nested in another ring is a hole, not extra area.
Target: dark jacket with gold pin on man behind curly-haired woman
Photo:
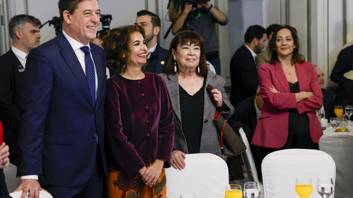
[[[150,73],[162,73],[164,63],[167,63],[164,59],[167,56],[168,50],[162,48],[157,42],[156,49],[151,53],[150,58],[147,60],[146,71]]]

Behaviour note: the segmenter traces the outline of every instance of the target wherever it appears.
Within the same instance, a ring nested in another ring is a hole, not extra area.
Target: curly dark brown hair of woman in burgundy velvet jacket
[[[106,54],[107,66],[109,68],[125,70],[123,66],[128,64],[127,58],[131,53],[129,42],[134,32],[140,32],[143,38],[146,37],[145,31],[139,25],[127,25],[114,28],[104,37],[102,46]]]

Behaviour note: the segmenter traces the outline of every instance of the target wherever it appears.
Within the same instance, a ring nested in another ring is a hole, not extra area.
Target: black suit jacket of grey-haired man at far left
[[[4,127],[3,141],[10,147],[10,154],[17,155],[24,67],[11,49],[0,56],[0,62],[0,120]]]

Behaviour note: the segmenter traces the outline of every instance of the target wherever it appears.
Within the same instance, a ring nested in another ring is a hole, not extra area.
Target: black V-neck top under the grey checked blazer
[[[205,83],[206,77],[203,78],[201,89],[192,96],[179,85],[181,128],[189,154],[200,152]]]

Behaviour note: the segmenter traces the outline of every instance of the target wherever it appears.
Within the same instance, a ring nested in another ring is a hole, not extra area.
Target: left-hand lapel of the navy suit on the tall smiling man
[[[93,108],[93,102],[91,97],[91,92],[88,86],[87,78],[82,70],[81,64],[77,59],[75,52],[73,51],[70,43],[65,38],[64,34],[59,34],[56,39],[58,40],[58,46],[62,49],[60,51],[62,57],[64,58],[68,67],[70,67],[72,73],[76,77],[78,83],[80,84],[88,102],[91,104]]]

